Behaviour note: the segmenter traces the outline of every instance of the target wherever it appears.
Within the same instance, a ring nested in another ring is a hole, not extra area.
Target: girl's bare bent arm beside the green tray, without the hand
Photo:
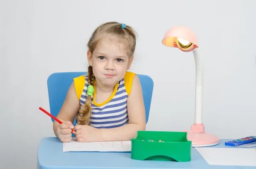
[[[131,140],[137,136],[138,130],[145,130],[145,107],[140,79],[137,75],[134,76],[131,93],[127,100],[127,111],[129,123],[116,128],[99,129],[100,141]]]

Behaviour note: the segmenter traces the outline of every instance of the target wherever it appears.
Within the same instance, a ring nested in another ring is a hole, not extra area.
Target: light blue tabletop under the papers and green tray
[[[227,147],[225,141],[212,148]],[[62,152],[62,149],[63,143],[58,138],[43,138],[38,146],[38,169],[256,169],[209,165],[195,148],[189,162],[133,160],[130,152]]]

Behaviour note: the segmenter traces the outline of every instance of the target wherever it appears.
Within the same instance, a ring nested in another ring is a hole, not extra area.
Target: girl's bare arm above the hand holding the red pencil
[[[79,100],[77,99],[76,89],[73,82],[67,91],[67,96],[56,118],[61,120],[61,122],[70,121],[71,123],[73,123],[76,117],[76,113],[79,110],[79,107],[80,107],[80,103],[79,103]],[[57,121],[53,122],[53,131],[55,135],[57,132],[58,125],[59,123]],[[68,128],[68,126],[66,126],[66,128]]]

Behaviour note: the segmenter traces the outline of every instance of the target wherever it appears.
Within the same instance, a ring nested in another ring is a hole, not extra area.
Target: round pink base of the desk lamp
[[[215,146],[220,141],[217,136],[204,132],[203,124],[195,123],[191,126],[191,130],[183,132],[187,132],[187,140],[192,141],[192,147]]]

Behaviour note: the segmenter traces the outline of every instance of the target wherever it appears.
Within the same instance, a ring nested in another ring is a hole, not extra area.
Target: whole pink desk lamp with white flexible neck
[[[179,48],[183,52],[193,52],[195,57],[195,123],[187,132],[187,139],[192,141],[192,147],[214,146],[219,138],[204,132],[203,117],[203,60],[198,49],[198,39],[195,33],[184,26],[175,26],[166,32],[162,43],[165,46]]]

